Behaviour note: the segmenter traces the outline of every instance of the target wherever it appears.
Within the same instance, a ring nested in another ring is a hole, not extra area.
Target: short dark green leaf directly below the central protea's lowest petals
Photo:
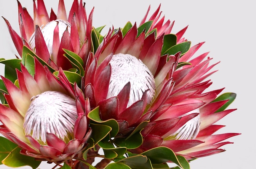
[[[119,147],[127,147],[127,149],[136,149],[143,142],[143,137],[140,132],[134,133],[132,136],[127,138],[115,138],[114,143]]]

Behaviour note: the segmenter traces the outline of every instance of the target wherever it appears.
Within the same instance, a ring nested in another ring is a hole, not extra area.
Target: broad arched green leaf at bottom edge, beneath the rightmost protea
[[[152,164],[162,164],[172,161],[183,169],[190,169],[189,163],[184,157],[176,156],[175,153],[167,147],[156,147],[141,153],[141,155],[147,156]]]

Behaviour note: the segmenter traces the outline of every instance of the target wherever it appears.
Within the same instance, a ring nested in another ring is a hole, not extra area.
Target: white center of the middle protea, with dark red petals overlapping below
[[[116,54],[110,60],[111,77],[107,98],[117,96],[123,87],[130,82],[130,98],[127,107],[141,99],[147,92],[148,104],[155,96],[155,79],[148,67],[135,56]]]

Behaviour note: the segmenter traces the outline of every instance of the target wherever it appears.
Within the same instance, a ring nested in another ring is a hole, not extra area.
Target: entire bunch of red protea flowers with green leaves
[[[18,2],[20,35],[4,18],[20,56],[0,61],[2,164],[189,169],[239,134],[214,134],[236,94],[206,92],[218,63],[195,57],[203,43],[191,47],[187,27],[171,33],[160,6],[103,36],[82,1],[68,17],[63,0],[50,15],[43,0],[33,3],[34,18]],[[94,165],[96,157],[103,159]]]

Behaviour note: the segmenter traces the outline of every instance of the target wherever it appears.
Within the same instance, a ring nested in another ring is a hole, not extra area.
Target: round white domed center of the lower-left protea
[[[68,142],[77,119],[76,102],[58,91],[45,91],[31,98],[24,118],[26,135],[46,143],[46,134],[53,133]]]

